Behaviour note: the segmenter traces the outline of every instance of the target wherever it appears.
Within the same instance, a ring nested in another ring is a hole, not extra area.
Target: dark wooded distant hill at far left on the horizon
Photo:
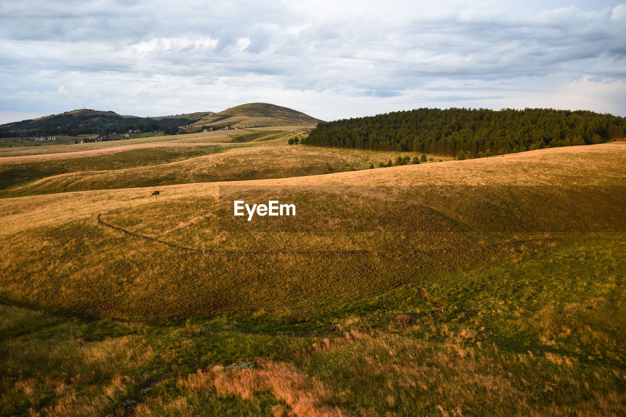
[[[200,118],[210,116],[212,111],[177,114],[175,116],[158,116],[153,118],[140,118],[138,116],[125,116],[114,111],[98,111],[80,109],[66,111],[61,114],[51,114],[43,118],[28,119],[14,123],[0,125],[0,136],[22,135],[37,136],[48,134],[89,134],[104,132],[123,132],[126,129],[140,129],[141,131],[153,131],[168,126],[180,126],[192,124]]]

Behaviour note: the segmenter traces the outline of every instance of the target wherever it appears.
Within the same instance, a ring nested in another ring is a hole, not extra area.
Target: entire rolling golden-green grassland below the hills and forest
[[[300,130],[0,149],[0,413],[626,413],[626,143],[368,169],[401,153]]]

